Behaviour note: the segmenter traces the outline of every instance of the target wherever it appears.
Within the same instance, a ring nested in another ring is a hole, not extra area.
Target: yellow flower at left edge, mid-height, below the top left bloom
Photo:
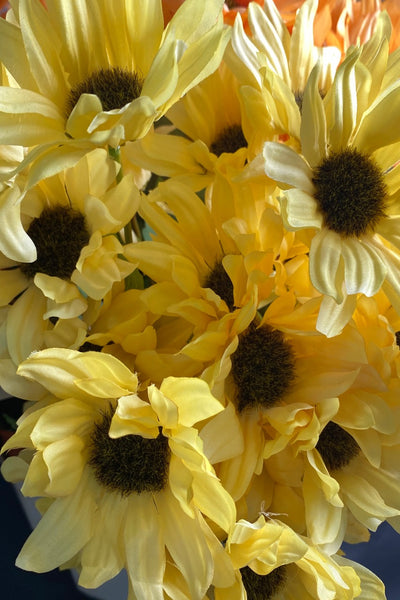
[[[20,189],[23,175],[4,187],[0,306],[7,307],[1,368],[5,389],[17,383],[16,367],[32,351],[78,347],[86,329],[80,317],[88,303],[101,302],[134,269],[123,259],[117,236],[136,212],[139,191],[131,175],[116,183],[118,169],[107,151],[98,148],[26,194]]]

